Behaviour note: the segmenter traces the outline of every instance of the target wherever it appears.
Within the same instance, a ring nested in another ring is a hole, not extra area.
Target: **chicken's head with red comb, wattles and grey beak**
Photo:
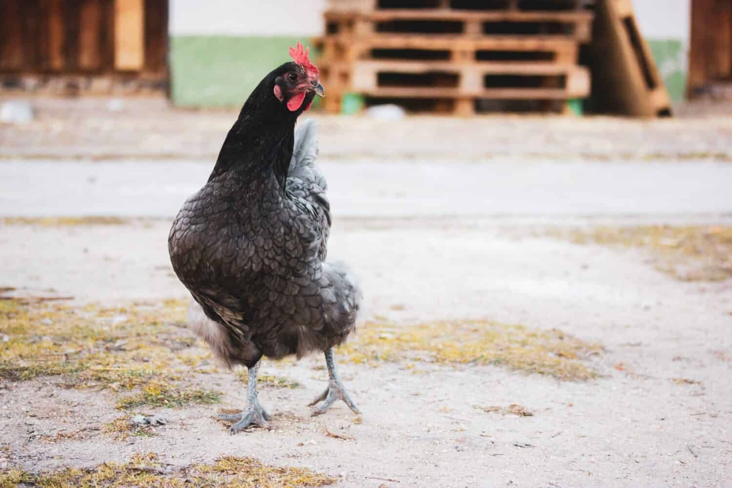
[[[290,56],[294,61],[285,63],[282,72],[275,78],[275,97],[287,104],[288,110],[294,112],[310,108],[315,94],[325,96],[325,90],[318,78],[318,68],[307,58],[310,48],[302,49],[297,43],[296,48],[290,48]]]

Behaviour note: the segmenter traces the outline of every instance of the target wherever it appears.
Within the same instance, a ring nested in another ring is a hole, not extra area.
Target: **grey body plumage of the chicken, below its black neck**
[[[355,328],[359,285],[344,263],[326,262],[331,215],[315,123],[303,121],[291,144],[284,181],[264,158],[290,154],[286,141],[214,170],[168,237],[173,269],[200,307],[190,323],[228,365],[326,350]]]

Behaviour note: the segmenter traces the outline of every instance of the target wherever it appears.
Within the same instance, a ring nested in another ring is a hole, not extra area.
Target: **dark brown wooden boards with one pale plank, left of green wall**
[[[0,90],[157,94],[168,88],[168,1],[0,0]]]

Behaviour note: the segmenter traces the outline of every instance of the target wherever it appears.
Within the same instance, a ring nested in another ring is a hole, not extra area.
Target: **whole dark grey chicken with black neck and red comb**
[[[206,184],[179,211],[168,251],[201,307],[197,334],[229,367],[248,369],[247,406],[221,415],[231,433],[268,427],[257,397],[262,356],[324,352],[329,383],[310,405],[343,399],[333,348],[355,329],[362,293],[344,263],[326,262],[331,225],[327,184],[315,165],[315,124],[300,114],[324,95],[318,68],[298,42],[294,61],[266,75],[244,103]],[[195,313],[194,313],[195,315]]]

